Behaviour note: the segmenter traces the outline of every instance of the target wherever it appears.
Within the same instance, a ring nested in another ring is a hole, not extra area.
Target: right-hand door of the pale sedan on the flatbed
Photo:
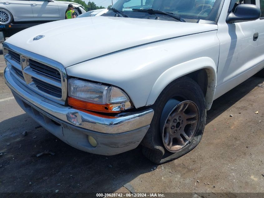
[[[30,1],[34,20],[59,20],[60,13],[57,3],[50,0]]]

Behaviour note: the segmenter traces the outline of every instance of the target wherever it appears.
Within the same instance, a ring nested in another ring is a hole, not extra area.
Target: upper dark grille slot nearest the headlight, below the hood
[[[42,74],[61,80],[61,74],[57,69],[53,69],[35,60],[29,59],[29,67]]]

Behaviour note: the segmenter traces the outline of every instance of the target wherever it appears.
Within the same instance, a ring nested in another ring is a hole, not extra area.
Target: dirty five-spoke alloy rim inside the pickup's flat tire
[[[162,130],[164,147],[170,152],[178,152],[195,135],[199,123],[199,110],[192,101],[177,104],[168,115]]]

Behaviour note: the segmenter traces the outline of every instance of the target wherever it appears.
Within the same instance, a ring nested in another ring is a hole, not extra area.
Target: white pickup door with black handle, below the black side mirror
[[[244,0],[241,3],[256,4],[255,2]],[[258,38],[255,36],[259,32],[260,20],[226,23],[227,14],[235,9],[236,3],[239,1],[231,0],[231,3],[225,1],[217,23],[220,52],[215,99],[251,77],[253,74],[250,69],[258,64],[256,53]]]

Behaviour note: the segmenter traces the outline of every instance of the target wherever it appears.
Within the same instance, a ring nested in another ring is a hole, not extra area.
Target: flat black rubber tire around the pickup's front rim
[[[169,152],[167,149],[165,149],[161,138],[162,131],[160,131],[160,124],[162,124],[160,123],[160,119],[163,108],[165,107],[167,101],[172,98],[177,99],[180,102],[184,100],[190,100],[197,105],[199,110],[199,124],[197,126],[195,135],[193,136],[192,140],[182,148],[182,150],[177,151],[176,153]],[[172,82],[171,84],[169,84],[159,95],[158,99],[153,105],[153,109],[154,109],[154,116],[152,119],[150,130],[148,132],[151,133],[153,145],[159,148],[160,146],[162,146],[164,150],[163,152],[165,153],[165,155],[160,163],[163,163],[162,161],[164,160],[167,161],[167,160],[177,159],[178,157],[185,155],[186,153],[188,153],[198,145],[198,143],[202,139],[202,133],[205,126],[206,110],[205,110],[204,94],[201,88],[199,87],[199,85],[194,80],[188,77],[181,77],[176,81]],[[149,136],[150,134],[147,135]],[[147,139],[149,140],[150,137],[148,137]],[[152,148],[155,147],[153,145]]]

